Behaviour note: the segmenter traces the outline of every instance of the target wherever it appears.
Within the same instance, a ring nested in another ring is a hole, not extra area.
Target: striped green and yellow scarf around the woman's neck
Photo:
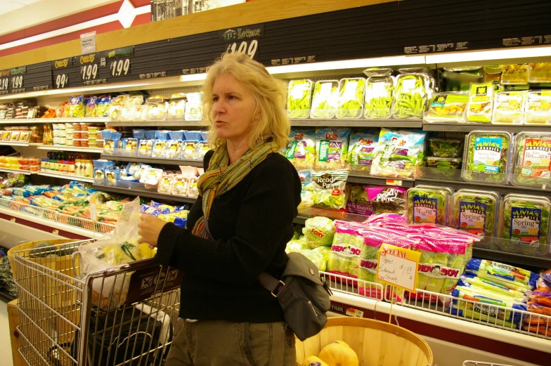
[[[199,237],[210,238],[205,220],[209,219],[212,202],[216,197],[220,197],[238,185],[238,183],[249,174],[255,166],[260,164],[269,155],[278,152],[278,148],[273,142],[264,142],[257,145],[254,149],[245,152],[237,162],[229,165],[230,158],[226,145],[220,145],[209,162],[209,169],[200,176],[197,182],[197,189],[202,197],[203,216],[197,220],[193,226],[192,233]]]

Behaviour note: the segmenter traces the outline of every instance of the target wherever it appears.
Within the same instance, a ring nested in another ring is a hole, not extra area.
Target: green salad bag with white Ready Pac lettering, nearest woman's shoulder
[[[347,170],[315,171],[312,174],[313,207],[318,209],[345,209]]]

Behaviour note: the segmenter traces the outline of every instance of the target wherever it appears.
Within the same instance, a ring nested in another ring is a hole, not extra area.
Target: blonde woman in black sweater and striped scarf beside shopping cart
[[[184,273],[186,322],[167,366],[295,365],[294,334],[258,281],[283,272],[300,203],[297,171],[278,154],[290,131],[285,86],[244,53],[226,53],[209,67],[203,92],[214,151],[187,228],[141,216],[141,242]]]

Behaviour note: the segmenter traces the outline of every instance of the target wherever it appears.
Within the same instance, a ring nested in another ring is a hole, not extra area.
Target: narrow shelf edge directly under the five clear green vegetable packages
[[[421,119],[291,119],[293,127],[403,127],[420,129]]]

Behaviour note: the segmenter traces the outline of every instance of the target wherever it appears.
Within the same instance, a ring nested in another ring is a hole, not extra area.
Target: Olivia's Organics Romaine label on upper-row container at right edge
[[[549,178],[551,172],[551,140],[526,138],[521,166],[521,176]]]

